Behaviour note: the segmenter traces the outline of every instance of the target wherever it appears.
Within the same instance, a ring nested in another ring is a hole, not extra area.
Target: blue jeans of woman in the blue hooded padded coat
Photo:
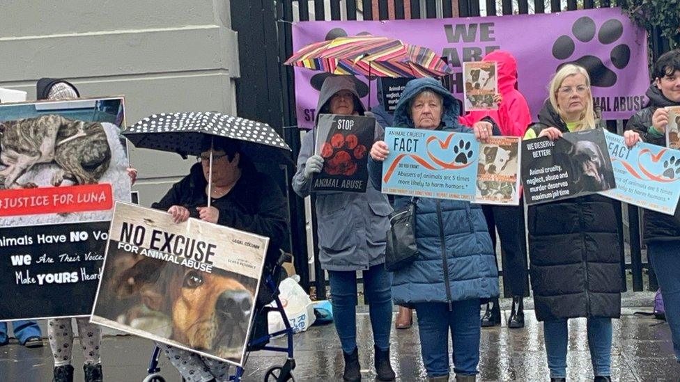
[[[454,345],[454,372],[477,374],[479,364],[479,299],[447,303],[417,303],[420,350],[428,377],[449,375],[449,328]]]

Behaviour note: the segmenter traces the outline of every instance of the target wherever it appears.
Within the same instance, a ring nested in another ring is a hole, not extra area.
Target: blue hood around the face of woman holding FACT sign
[[[394,126],[414,127],[413,120],[408,115],[408,105],[418,93],[426,89],[438,93],[444,99],[444,116],[442,116],[442,124],[444,127],[447,129],[461,129],[461,125],[458,123],[458,116],[460,115],[458,102],[456,102],[454,96],[449,93],[449,90],[446,90],[439,81],[432,78],[412,79],[406,83],[404,92],[399,99],[399,103],[396,104],[396,110],[394,111]]]

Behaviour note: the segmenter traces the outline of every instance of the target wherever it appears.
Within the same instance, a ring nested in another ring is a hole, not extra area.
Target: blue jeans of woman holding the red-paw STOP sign
[[[371,266],[362,272],[364,296],[369,304],[373,342],[382,350],[389,349],[389,330],[392,328],[392,275],[384,264]],[[357,273],[328,271],[333,321],[345,353],[357,347]]]

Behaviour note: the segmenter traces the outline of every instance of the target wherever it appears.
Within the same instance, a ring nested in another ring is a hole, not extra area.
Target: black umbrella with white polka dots
[[[154,114],[128,127],[123,135],[136,148],[177,152],[183,157],[201,154],[206,135],[224,136],[240,141],[242,153],[252,161],[293,163],[291,148],[272,127],[222,113]]]

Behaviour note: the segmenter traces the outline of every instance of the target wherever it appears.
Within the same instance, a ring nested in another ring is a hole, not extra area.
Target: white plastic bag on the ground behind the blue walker
[[[284,310],[286,311],[286,316],[288,316],[288,322],[291,323],[293,328],[293,333],[306,331],[316,320],[314,316],[314,303],[311,302],[304,289],[297,284],[295,278],[289,277],[281,281],[279,291],[279,299],[281,304],[284,305]],[[270,305],[275,306],[276,303],[272,302]],[[283,331],[286,328],[279,312],[269,312],[268,321],[269,333]]]

